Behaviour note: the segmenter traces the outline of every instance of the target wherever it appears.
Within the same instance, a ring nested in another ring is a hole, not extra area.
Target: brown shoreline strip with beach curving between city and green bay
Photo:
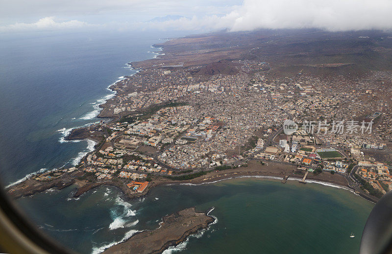
[[[142,193],[132,192],[122,182],[114,182],[114,181],[110,180],[110,181],[102,181],[102,182],[95,182],[95,183],[85,183],[82,180],[77,180],[77,179],[73,178],[72,174],[66,175],[65,177],[60,177],[60,178],[51,180],[49,182],[38,182],[33,179],[28,179],[27,181],[29,181],[29,182],[27,182],[27,183],[30,184],[32,188],[25,188],[24,186],[20,187],[22,189],[20,192],[22,192],[22,193],[18,193],[17,195],[14,195],[14,198],[31,196],[31,195],[43,192],[48,189],[48,188],[39,187],[34,190],[34,187],[36,187],[36,185],[35,186],[32,185],[31,183],[33,183],[33,182],[35,184],[40,183],[40,185],[44,185],[44,186],[51,185],[51,182],[62,182],[63,184],[67,183],[67,186],[75,184],[75,189],[73,190],[74,191],[73,198],[79,198],[81,195],[88,193],[90,190],[92,190],[98,186],[101,186],[101,185],[114,186],[114,187],[117,187],[120,189],[120,191],[125,199],[132,200],[135,198],[141,198],[141,197],[148,195],[149,191],[152,188],[159,186],[159,185],[204,185],[204,184],[214,184],[217,182],[230,180],[230,179],[241,179],[241,178],[254,178],[254,179],[260,179],[260,180],[269,179],[269,180],[282,181],[283,177],[286,174],[290,174],[288,180],[292,180],[292,181],[299,181],[303,177],[303,174],[302,175],[301,174],[291,174],[288,170],[288,169],[294,169],[294,167],[291,165],[281,165],[276,162],[275,163],[269,162],[269,164],[270,165],[265,165],[263,167],[258,167],[256,169],[252,169],[252,167],[254,167],[254,165],[258,165],[258,164],[257,163],[253,163],[253,164],[250,163],[250,167],[248,166],[248,167],[242,167],[242,168],[236,168],[236,169],[227,169],[227,170],[221,170],[218,172],[212,171],[212,172],[209,172],[205,175],[199,176],[195,179],[184,180],[184,181],[176,181],[176,180],[171,180],[169,178],[157,177],[150,182],[150,185],[148,185],[147,189]],[[268,170],[274,171],[274,172],[269,172]],[[345,189],[345,190],[352,192],[354,195],[361,196],[362,198],[368,200],[371,203],[374,203],[373,200],[369,200],[366,196],[361,195],[361,193],[358,193],[355,191],[355,189],[351,188],[348,185],[348,183],[346,182],[345,178],[343,178],[343,176],[338,175],[338,174],[330,175],[328,173],[321,173],[319,175],[309,175],[306,179],[306,182],[329,186],[329,187],[342,188],[342,189]],[[19,187],[19,185],[18,185],[18,187]],[[56,186],[51,186],[51,187],[56,187]],[[6,191],[12,192],[12,186],[6,188]],[[23,192],[25,192],[25,193],[23,193]]]

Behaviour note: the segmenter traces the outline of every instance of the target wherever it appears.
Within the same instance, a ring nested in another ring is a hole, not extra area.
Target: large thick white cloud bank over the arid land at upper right
[[[329,31],[392,29],[391,0],[244,0],[222,16],[181,18],[150,27],[178,30],[249,31],[260,28],[319,28]]]

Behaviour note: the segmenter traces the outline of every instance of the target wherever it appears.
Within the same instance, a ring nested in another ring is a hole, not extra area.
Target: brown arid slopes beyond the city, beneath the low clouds
[[[366,34],[377,40],[359,38]],[[379,31],[327,32],[314,29],[225,31],[169,40],[160,58],[130,63],[136,69],[206,66],[221,60],[263,60],[279,74],[362,75],[392,68],[392,40]],[[200,70],[201,71],[201,70]],[[282,76],[283,76],[282,75]]]

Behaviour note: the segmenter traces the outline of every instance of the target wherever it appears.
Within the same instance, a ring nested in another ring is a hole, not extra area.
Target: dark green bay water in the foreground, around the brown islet
[[[158,186],[137,200],[105,186],[67,200],[72,190],[18,203],[45,232],[80,253],[98,253],[135,231],[158,227],[167,214],[196,206],[214,207],[210,215],[218,221],[166,253],[355,254],[373,206],[344,189],[251,178]]]

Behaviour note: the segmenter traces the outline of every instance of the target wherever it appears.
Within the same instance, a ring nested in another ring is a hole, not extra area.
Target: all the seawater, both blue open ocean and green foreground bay
[[[99,121],[107,88],[153,57],[160,38],[186,32],[41,32],[0,38],[0,181],[72,165],[94,143],[65,141],[75,127]],[[358,253],[372,208],[353,193],[325,185],[240,179],[209,185],[159,186],[127,200],[101,186],[73,199],[74,186],[21,198],[38,228],[83,254],[99,253],[133,233],[158,227],[183,208],[214,208],[216,222],[165,253]],[[355,238],[349,238],[353,231]]]

